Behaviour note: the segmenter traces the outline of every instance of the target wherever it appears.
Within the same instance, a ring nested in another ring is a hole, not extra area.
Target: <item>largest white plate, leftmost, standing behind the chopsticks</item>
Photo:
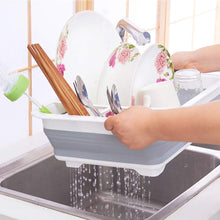
[[[113,25],[102,15],[79,12],[67,21],[60,34],[56,65],[72,88],[76,75],[80,75],[95,103],[103,64],[120,41]]]

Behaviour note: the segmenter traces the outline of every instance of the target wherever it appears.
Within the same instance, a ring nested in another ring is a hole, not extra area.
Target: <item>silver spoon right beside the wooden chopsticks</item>
[[[103,117],[102,113],[93,105],[88,97],[85,83],[79,75],[76,76],[75,82],[73,82],[76,94],[80,102],[87,108],[89,108],[95,116]]]

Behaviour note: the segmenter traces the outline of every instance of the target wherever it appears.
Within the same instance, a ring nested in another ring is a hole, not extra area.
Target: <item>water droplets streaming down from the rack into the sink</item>
[[[77,209],[114,219],[143,219],[149,216],[144,208],[151,197],[150,177],[134,170],[95,165],[70,168],[70,204]]]

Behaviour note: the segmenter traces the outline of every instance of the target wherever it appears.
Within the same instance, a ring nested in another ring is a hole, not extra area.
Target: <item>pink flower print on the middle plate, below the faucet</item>
[[[121,44],[110,58],[109,66],[113,68],[116,65],[116,61],[123,65],[127,62],[132,62],[138,55],[140,53],[137,52],[134,45],[128,43]]]

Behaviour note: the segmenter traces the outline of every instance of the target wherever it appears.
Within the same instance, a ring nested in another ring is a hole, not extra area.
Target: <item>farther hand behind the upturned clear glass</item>
[[[174,70],[197,69],[193,62],[193,51],[176,52],[171,56]]]

